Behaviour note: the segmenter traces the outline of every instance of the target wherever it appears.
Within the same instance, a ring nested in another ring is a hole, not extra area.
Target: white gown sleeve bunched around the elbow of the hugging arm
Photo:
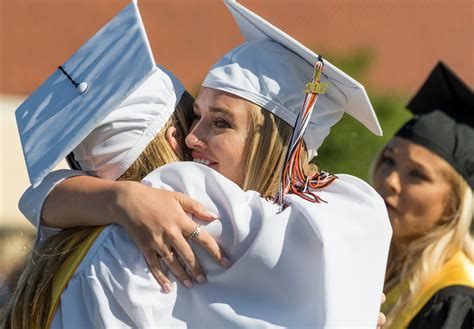
[[[61,231],[60,229],[41,224],[41,211],[49,193],[63,180],[69,177],[81,175],[86,176],[87,173],[80,170],[67,169],[50,172],[40,185],[36,188],[33,188],[33,186],[30,185],[21,196],[20,201],[18,202],[18,208],[37,230],[35,245],[56,232]]]

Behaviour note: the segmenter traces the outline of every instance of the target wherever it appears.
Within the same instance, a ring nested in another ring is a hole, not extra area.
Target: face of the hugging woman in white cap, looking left
[[[242,186],[251,110],[252,103],[238,96],[203,87],[194,103],[196,118],[186,137],[193,161]]]

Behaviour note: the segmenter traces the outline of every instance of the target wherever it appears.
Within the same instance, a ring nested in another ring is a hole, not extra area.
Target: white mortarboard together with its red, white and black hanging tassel
[[[344,112],[381,135],[367,93],[360,83],[285,32],[233,0],[224,2],[246,42],[214,65],[203,86],[238,95],[292,125],[294,132],[276,202],[283,207],[287,193],[319,202],[321,199],[308,188],[323,188],[335,177],[326,173],[305,176],[300,163],[302,140],[311,159]]]

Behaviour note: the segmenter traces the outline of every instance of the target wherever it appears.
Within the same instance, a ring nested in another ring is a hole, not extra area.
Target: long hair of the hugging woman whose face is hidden
[[[140,157],[119,180],[140,181],[149,172],[167,163],[179,161],[165,138],[166,130],[176,127],[176,139],[185,150],[184,137],[192,122],[193,97],[185,92],[165,126],[148,144]],[[185,157],[189,157],[185,155]],[[0,314],[0,327],[12,329],[44,328],[51,307],[52,280],[64,261],[96,228],[64,230],[30,252],[17,287]],[[77,241],[72,244],[70,241]]]

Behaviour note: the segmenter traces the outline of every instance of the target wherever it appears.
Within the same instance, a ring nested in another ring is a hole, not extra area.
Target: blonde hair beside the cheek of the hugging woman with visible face
[[[278,192],[280,175],[293,128],[266,109],[252,104],[250,110],[249,149],[243,189],[258,191],[262,197],[274,197]],[[318,171],[309,163],[306,145],[302,163],[306,174]]]

